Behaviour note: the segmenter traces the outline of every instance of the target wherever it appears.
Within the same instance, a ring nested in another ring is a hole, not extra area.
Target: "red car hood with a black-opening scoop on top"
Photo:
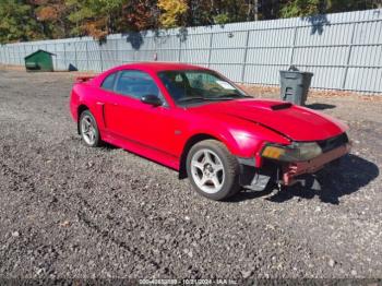
[[[279,100],[238,99],[189,108],[216,117],[225,115],[266,127],[293,141],[320,141],[339,135],[347,126],[341,121]]]

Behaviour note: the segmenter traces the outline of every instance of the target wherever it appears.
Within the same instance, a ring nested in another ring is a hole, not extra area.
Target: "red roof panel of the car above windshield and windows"
[[[188,63],[178,62],[160,62],[160,61],[150,61],[150,62],[136,62],[120,65],[119,69],[142,69],[152,71],[169,71],[169,70],[206,70],[206,68],[198,67]]]

